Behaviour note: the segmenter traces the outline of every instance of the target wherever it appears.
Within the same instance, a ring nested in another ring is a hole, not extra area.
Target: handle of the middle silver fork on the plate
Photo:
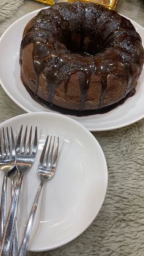
[[[16,214],[18,210],[18,201],[20,198],[20,189],[21,189],[22,180],[23,180],[23,175],[20,176],[20,178],[18,179],[18,182],[16,183],[15,194],[13,195],[13,200],[10,205],[9,214],[7,216],[7,222],[5,225],[4,235],[2,238],[1,249],[0,249],[1,256],[9,256],[12,248],[13,235],[14,235],[13,230],[15,230],[15,219],[16,219]]]

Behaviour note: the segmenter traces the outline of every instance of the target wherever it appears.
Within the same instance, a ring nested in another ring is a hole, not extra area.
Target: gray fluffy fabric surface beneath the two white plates
[[[0,23],[1,34],[20,16],[45,6],[32,0],[12,2],[15,7],[18,3],[21,7],[9,20]],[[118,0],[117,10],[144,26],[143,1]],[[0,122],[24,113],[2,89],[0,97]],[[71,243],[49,252],[28,252],[27,256],[144,255],[144,120],[93,135],[104,150],[109,172],[101,211],[90,227]]]

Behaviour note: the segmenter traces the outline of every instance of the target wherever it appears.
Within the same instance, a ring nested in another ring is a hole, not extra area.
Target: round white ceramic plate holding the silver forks
[[[65,115],[29,113],[13,117],[0,127],[12,126],[16,135],[22,123],[38,126],[39,146],[34,166],[23,180],[18,213],[20,237],[40,182],[36,171],[46,135],[60,137],[56,174],[43,189],[29,243],[30,251],[46,251],[73,240],[96,218],[106,195],[107,164],[95,137]]]

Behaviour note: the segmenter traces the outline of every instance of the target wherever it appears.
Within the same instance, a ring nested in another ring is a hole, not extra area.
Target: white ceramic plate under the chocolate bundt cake
[[[7,95],[25,111],[53,112],[34,101],[20,79],[19,49],[23,29],[38,11],[31,12],[17,20],[2,35],[0,39],[0,82]],[[132,23],[144,42],[144,28],[134,21]],[[106,114],[89,115],[87,117],[70,115],[70,117],[84,125],[90,131],[112,130],[130,125],[144,117],[143,81],[144,71],[139,78],[137,92],[134,97],[129,98],[123,105],[118,106]]]

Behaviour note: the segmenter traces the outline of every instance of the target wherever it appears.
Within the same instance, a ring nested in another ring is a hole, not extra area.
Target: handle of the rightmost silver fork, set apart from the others
[[[23,235],[23,239],[21,241],[21,246],[20,246],[20,250],[18,252],[18,256],[26,255],[29,238],[30,238],[31,231],[32,231],[32,225],[34,224],[35,213],[37,211],[37,206],[38,206],[38,202],[40,199],[41,189],[43,188],[44,183],[45,183],[45,180],[41,180],[40,185],[38,187],[37,194],[35,196],[35,200],[32,205],[32,208],[31,208],[31,213],[29,214],[29,219],[26,224],[26,229],[24,230],[24,235]]]

